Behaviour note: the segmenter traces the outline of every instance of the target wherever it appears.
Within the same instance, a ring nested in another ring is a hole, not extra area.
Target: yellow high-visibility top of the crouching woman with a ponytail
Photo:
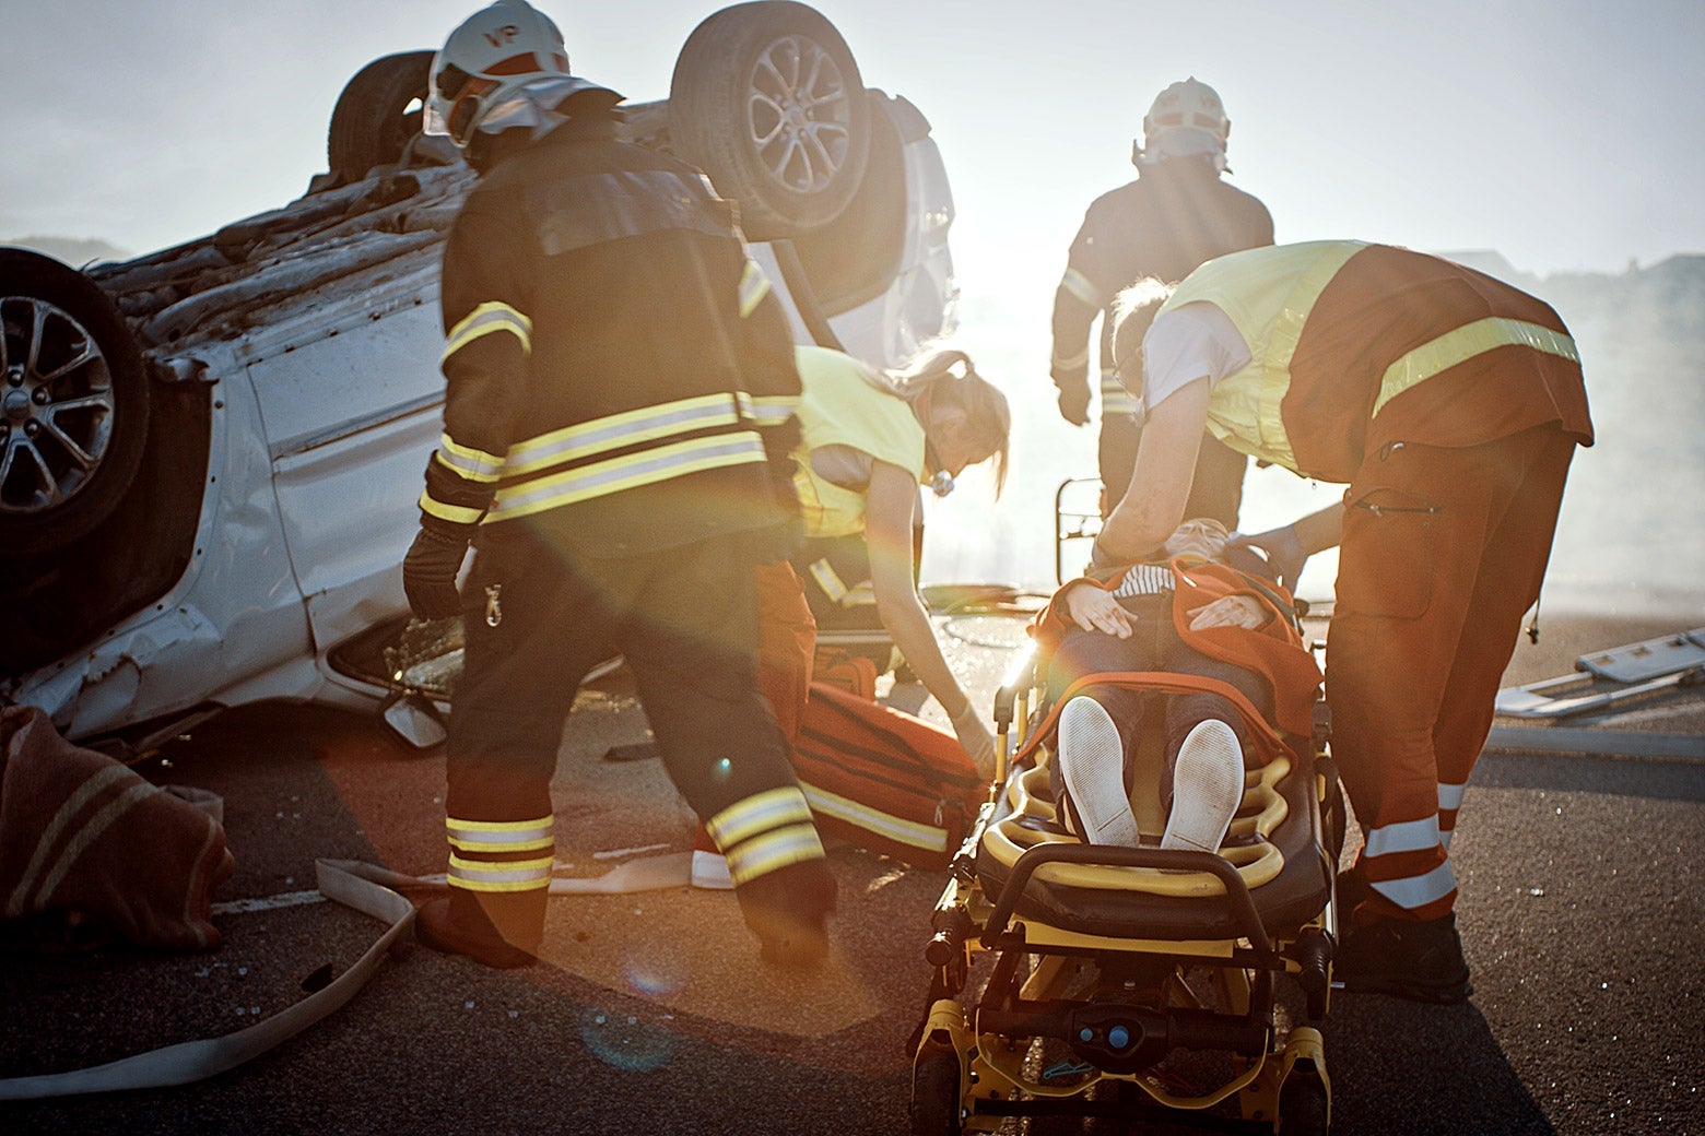
[[[798,347],[800,431],[795,485],[806,536],[849,536],[864,531],[864,492],[837,485],[812,468],[812,451],[847,446],[928,480],[924,427],[912,404],[880,390],[863,364],[827,347]]]

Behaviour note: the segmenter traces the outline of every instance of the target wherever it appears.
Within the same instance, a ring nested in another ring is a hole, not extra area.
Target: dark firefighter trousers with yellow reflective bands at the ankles
[[[522,523],[505,530],[481,533],[464,589],[445,795],[452,921],[537,950],[563,726],[587,673],[617,654],[670,778],[728,852],[737,889],[783,872],[793,901],[815,906],[820,921],[832,894],[815,892],[832,881],[754,674],[752,538],[585,559]],[[784,872],[796,867],[808,870]],[[760,891],[788,892],[779,884]]]

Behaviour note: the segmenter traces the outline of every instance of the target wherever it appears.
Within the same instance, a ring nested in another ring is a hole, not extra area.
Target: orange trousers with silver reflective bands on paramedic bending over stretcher
[[[1326,635],[1332,751],[1366,835],[1352,913],[1451,911],[1449,843],[1521,618],[1540,596],[1574,439],[1388,443],[1345,492]]]

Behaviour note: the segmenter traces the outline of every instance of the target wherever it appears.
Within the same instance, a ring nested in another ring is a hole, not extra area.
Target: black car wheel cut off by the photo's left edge
[[[148,380],[82,273],[0,249],[0,548],[53,552],[111,516],[142,462]]]

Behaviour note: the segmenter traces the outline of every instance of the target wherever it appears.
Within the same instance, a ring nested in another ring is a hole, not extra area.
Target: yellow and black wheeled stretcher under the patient
[[[1212,680],[1086,678],[1153,698],[1222,693],[1263,758],[1219,855],[1161,850],[1165,754],[1141,741],[1141,846],[1086,845],[1059,823],[1049,778],[1054,720],[1076,688],[1049,705],[1037,671],[1026,656],[996,697],[996,787],[933,915],[912,1133],[1050,1116],[1325,1133],[1345,831],[1325,705],[1313,737],[1287,737]]]

